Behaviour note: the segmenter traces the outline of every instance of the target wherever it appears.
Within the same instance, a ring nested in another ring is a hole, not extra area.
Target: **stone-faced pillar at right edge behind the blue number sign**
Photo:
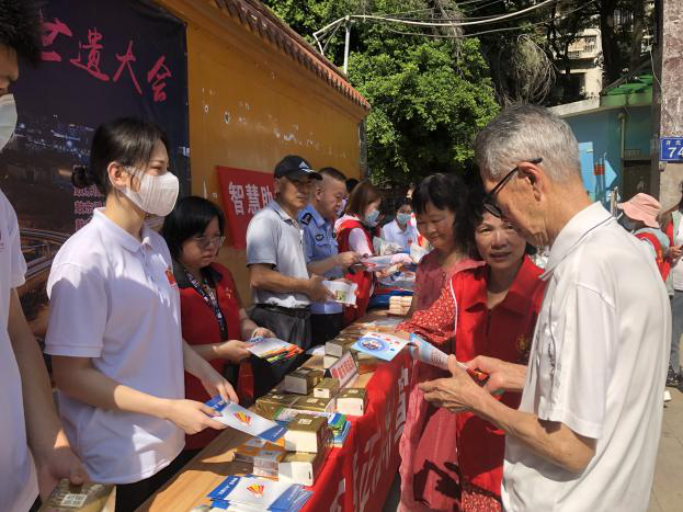
[[[680,0],[657,0],[654,18],[657,52],[652,72],[652,143],[650,193],[659,196],[662,208],[681,200],[679,184],[683,181],[683,162],[661,162],[661,137],[683,137],[683,16]],[[659,135],[659,137],[657,137]]]

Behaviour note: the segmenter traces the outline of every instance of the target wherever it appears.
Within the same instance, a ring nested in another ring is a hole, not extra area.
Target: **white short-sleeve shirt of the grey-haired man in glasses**
[[[662,422],[671,312],[647,249],[595,203],[560,231],[520,410],[596,440],[573,475],[505,440],[508,511],[645,511]]]

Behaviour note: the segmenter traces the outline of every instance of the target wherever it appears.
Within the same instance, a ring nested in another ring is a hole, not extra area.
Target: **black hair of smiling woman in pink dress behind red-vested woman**
[[[453,238],[456,249],[469,253],[474,244],[474,228],[469,215],[469,193],[458,174],[439,172],[420,181],[412,193],[412,211],[422,215],[432,203],[439,209],[455,215]]]

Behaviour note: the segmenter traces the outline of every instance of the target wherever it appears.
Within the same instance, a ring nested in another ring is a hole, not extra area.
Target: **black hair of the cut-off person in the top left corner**
[[[0,44],[32,64],[41,60],[41,14],[33,0],[0,0]]]

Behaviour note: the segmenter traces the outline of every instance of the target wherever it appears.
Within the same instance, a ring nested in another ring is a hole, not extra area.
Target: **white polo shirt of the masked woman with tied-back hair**
[[[45,352],[90,357],[107,377],[156,397],[184,398],[180,295],[163,239],[140,242],[96,209],[57,253]],[[58,394],[59,413],[90,478],[143,480],[184,446],[182,430],[152,416],[104,410]]]

